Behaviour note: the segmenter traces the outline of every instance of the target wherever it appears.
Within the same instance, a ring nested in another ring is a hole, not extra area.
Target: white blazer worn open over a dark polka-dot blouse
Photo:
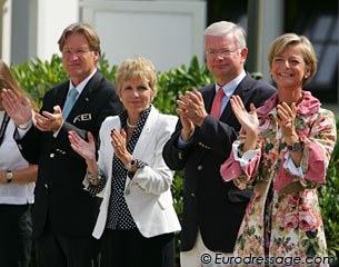
[[[133,158],[148,166],[138,169],[134,177],[127,176],[124,198],[128,208],[142,236],[153,237],[166,233],[180,230],[180,224],[173,208],[171,184],[173,171],[163,161],[162,149],[175,130],[178,118],[161,115],[152,107],[133,151]],[[93,237],[100,238],[107,221],[111,192],[111,174],[113,147],[111,130],[121,130],[119,116],[106,118],[100,128],[100,148],[98,165],[107,177],[103,190],[98,194],[103,197],[100,212],[93,229]],[[84,179],[83,184],[89,185]]]

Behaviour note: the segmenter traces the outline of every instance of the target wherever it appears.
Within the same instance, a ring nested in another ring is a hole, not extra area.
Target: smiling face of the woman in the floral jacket
[[[289,44],[271,61],[271,76],[279,89],[301,90],[310,76],[310,67],[303,60],[299,44]]]

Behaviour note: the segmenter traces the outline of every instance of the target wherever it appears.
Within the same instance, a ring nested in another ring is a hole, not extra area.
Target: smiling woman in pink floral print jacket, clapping
[[[255,192],[235,256],[326,257],[317,189],[325,182],[336,144],[335,117],[302,90],[317,70],[315,50],[306,37],[278,37],[268,59],[278,92],[250,112],[239,97],[231,99],[242,130],[220,170],[226,181],[233,180],[240,189],[252,187]]]

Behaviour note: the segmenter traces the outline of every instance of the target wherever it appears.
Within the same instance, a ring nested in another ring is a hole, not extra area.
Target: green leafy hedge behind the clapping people
[[[109,80],[116,80],[118,66],[110,67],[109,62],[102,57],[99,62],[100,71]],[[62,60],[57,55],[50,61],[40,59],[31,60],[23,65],[11,66],[16,78],[21,87],[41,105],[44,92],[59,82],[67,80]],[[205,65],[200,65],[196,57],[189,66],[180,66],[169,71],[158,72],[158,96],[153,105],[163,113],[176,115],[176,100],[180,93],[193,88],[213,82]],[[337,120],[337,129],[339,120]],[[327,184],[319,189],[319,200],[322,210],[322,218],[329,254],[339,258],[339,141],[335,148],[332,159],[327,172]],[[172,185],[175,208],[179,218],[182,216],[182,172],[177,172]],[[227,238],[227,237],[225,237]],[[177,240],[177,249],[179,238]]]

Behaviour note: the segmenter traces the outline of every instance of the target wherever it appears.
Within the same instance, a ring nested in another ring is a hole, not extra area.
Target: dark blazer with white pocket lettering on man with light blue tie
[[[50,89],[40,112],[53,112],[53,107],[63,107],[69,81]],[[107,116],[122,110],[116,87],[99,71],[88,81],[57,138],[52,132],[31,127],[22,139],[17,139],[23,157],[38,164],[38,180],[34,190],[33,237],[39,238],[49,219],[54,233],[71,236],[91,235],[99,212],[100,199],[83,189],[86,161],[72,150],[68,131],[82,137],[90,131],[96,138]]]

